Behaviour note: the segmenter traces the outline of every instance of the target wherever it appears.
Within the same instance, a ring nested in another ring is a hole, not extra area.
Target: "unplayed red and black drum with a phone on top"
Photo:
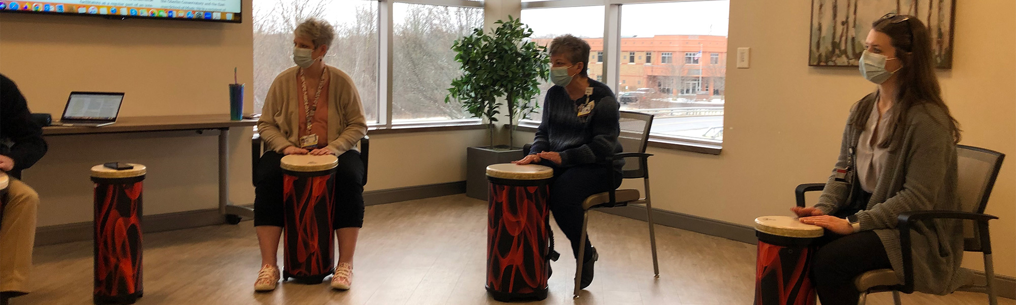
[[[139,164],[91,168],[96,202],[96,304],[134,304],[141,297],[141,189]]]

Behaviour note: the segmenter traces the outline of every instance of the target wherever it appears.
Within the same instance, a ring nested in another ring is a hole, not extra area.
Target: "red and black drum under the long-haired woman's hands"
[[[802,224],[797,218],[773,216],[755,219],[759,238],[755,270],[755,305],[815,305],[815,287],[808,278],[822,227]]]

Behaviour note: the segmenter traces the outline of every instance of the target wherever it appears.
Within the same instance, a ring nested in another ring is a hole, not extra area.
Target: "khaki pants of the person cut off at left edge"
[[[27,293],[39,193],[20,180],[10,179],[7,194],[0,223],[0,292]]]

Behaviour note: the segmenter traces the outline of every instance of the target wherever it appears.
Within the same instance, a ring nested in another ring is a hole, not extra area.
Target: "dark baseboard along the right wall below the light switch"
[[[645,205],[628,205],[597,210],[643,222],[646,221]],[[678,228],[681,230],[697,232],[715,237],[722,237],[749,244],[758,244],[758,239],[755,237],[755,228],[744,225],[657,208],[653,208],[652,219],[656,225]],[[974,283],[983,285],[987,281],[985,272],[977,270],[971,271],[973,271]],[[996,274],[995,292],[1001,298],[1016,299],[1016,278]]]

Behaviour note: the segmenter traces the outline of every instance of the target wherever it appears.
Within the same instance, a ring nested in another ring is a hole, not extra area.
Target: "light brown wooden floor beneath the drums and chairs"
[[[282,284],[254,293],[259,267],[252,222],[148,234],[144,297],[137,304],[498,304],[484,290],[486,202],[454,195],[367,207],[354,288]],[[660,278],[653,279],[645,223],[593,212],[596,280],[571,298],[574,259],[554,263],[550,297],[530,304],[751,304],[755,246],[669,227],[656,230]],[[556,236],[564,240],[560,231]],[[281,257],[281,254],[279,255]],[[90,304],[91,242],[40,247],[35,292],[21,304]],[[1001,299],[1000,304],[1016,302]],[[889,294],[869,304],[891,304]],[[987,304],[983,295],[904,295],[904,304]]]

